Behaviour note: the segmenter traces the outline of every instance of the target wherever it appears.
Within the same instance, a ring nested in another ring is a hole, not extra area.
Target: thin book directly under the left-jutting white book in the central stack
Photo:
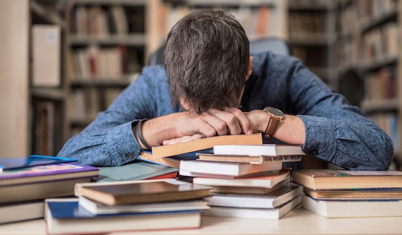
[[[238,179],[222,179],[208,177],[194,177],[193,184],[203,184],[208,186],[236,186],[236,187],[256,187],[272,188],[279,182],[290,177],[290,169],[282,169],[279,173],[268,175],[257,175]]]

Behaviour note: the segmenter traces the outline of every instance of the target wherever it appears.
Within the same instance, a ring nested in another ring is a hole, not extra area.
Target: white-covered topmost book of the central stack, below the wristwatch
[[[291,156],[305,155],[301,145],[214,145],[214,154],[240,156]]]

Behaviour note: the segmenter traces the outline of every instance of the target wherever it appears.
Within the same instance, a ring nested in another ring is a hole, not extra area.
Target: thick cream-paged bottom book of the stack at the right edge
[[[318,200],[303,195],[302,206],[327,218],[402,216],[400,200]]]

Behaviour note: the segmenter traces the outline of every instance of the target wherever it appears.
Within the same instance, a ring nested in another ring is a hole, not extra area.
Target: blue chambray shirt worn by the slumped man
[[[345,169],[388,169],[392,142],[359,108],[329,89],[296,58],[270,52],[253,56],[253,73],[242,97],[244,112],[273,106],[297,115],[305,125],[305,153]],[[131,162],[140,153],[131,125],[173,112],[179,108],[171,105],[164,67],[145,67],[136,82],[68,140],[58,156],[93,166]]]

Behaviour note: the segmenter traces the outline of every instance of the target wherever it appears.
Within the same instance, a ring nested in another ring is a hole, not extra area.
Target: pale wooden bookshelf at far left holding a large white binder
[[[64,19],[37,0],[5,0],[0,9],[1,107],[8,114],[0,157],[54,155],[64,143]]]

